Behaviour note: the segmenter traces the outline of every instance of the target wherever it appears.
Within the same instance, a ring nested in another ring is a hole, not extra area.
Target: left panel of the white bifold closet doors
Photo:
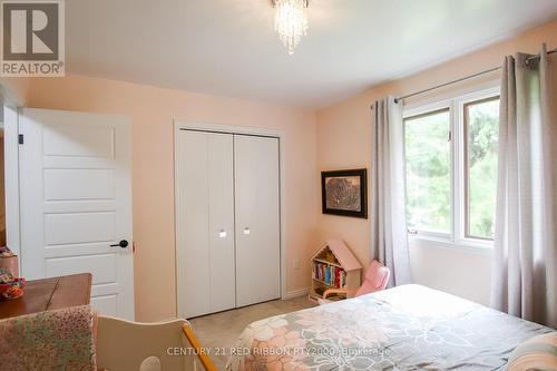
[[[180,130],[177,141],[178,315],[235,306],[233,137]]]

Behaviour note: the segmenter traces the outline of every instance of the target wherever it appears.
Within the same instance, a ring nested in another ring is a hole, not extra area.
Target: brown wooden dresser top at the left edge
[[[91,274],[28,281],[21,297],[0,302],[0,319],[87,305],[91,297]]]

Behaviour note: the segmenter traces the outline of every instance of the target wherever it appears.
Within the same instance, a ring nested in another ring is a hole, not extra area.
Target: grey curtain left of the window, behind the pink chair
[[[371,253],[391,270],[389,286],[410,283],[402,105],[374,104],[371,156]]]

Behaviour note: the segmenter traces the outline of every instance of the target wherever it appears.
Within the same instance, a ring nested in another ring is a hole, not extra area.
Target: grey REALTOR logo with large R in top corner
[[[2,1],[0,76],[65,75],[63,1]]]

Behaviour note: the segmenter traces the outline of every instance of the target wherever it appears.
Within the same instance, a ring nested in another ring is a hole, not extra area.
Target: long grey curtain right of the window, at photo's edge
[[[491,305],[557,328],[557,59],[505,58]]]

